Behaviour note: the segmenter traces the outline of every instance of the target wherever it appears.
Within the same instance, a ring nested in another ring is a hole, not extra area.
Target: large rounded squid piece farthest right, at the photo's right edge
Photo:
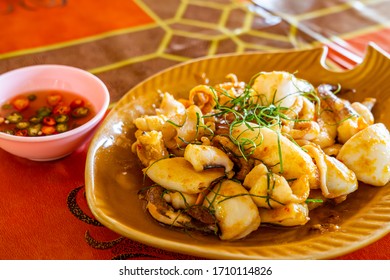
[[[382,123],[370,125],[352,136],[337,159],[355,172],[359,181],[384,186],[390,181],[390,134]]]

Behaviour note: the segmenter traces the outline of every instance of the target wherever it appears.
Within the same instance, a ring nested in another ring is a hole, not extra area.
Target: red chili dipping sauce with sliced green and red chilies
[[[62,90],[25,92],[0,106],[0,132],[17,136],[62,133],[83,125],[96,114],[84,97]]]

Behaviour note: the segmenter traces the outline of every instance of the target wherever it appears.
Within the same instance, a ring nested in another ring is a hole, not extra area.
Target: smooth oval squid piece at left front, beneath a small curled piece
[[[162,187],[187,194],[200,193],[213,181],[225,176],[222,168],[196,171],[191,163],[182,157],[158,160],[146,168],[145,172],[152,181]]]

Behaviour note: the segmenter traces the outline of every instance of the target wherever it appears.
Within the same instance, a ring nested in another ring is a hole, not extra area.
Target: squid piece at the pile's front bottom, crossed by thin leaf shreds
[[[244,238],[260,226],[256,204],[238,182],[225,180],[216,184],[203,206],[214,211],[221,240]]]

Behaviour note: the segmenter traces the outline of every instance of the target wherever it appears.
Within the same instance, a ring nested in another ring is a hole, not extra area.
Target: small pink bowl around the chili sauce
[[[0,132],[0,148],[35,161],[62,158],[85,142],[104,117],[110,102],[107,87],[91,73],[64,65],[36,65],[0,75],[0,104],[22,92],[50,89],[71,91],[85,97],[96,115],[75,129],[55,135],[23,137]]]

